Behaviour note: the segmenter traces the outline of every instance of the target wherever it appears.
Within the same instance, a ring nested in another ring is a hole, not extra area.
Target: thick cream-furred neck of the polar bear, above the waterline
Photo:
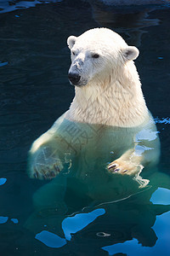
[[[133,74],[123,70],[120,79],[98,79],[81,88],[76,95],[66,118],[72,121],[134,127],[149,118],[139,75],[133,67]]]

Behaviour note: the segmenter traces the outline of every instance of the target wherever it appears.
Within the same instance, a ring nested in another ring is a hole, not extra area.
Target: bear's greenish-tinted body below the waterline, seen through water
[[[74,190],[75,193],[77,191],[77,194],[82,194],[83,191],[83,194],[92,201],[105,201],[115,196],[119,199],[123,189],[128,195],[134,192],[134,188],[148,184],[148,179],[142,178],[144,176],[140,177],[141,166],[144,165],[147,169],[145,177],[148,177],[149,172],[156,171],[160,146],[156,126],[151,117],[143,126],[120,128],[73,122],[65,119],[66,114],[33,143],[30,152],[31,156],[34,156],[31,157],[29,166],[31,177],[35,177],[35,174],[40,179],[57,176],[51,184],[48,184],[48,188],[51,186],[53,189],[48,194],[47,204],[49,198],[54,200],[55,197],[54,201],[57,201],[57,198],[59,201],[64,199],[67,189]],[[127,159],[127,162],[130,162],[128,165],[133,163],[138,167],[138,172],[133,173],[133,178],[129,175],[122,178],[119,172],[109,172],[108,164],[122,157],[129,148],[131,149]],[[135,157],[143,160],[136,163]],[[120,182],[122,189],[120,195],[119,193],[116,195],[115,191]],[[48,191],[47,188],[45,191]],[[36,205],[39,204],[38,201],[43,201],[46,205],[43,195],[38,193]]]

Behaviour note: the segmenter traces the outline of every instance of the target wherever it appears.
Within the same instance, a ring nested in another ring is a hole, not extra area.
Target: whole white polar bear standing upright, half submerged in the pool
[[[70,109],[32,144],[30,177],[76,177],[91,189],[90,196],[101,195],[100,185],[105,183],[105,190],[117,174],[148,183],[139,174],[156,166],[160,151],[133,62],[139,49],[107,28],[70,36],[67,44],[75,97]],[[99,189],[92,193],[94,182]]]

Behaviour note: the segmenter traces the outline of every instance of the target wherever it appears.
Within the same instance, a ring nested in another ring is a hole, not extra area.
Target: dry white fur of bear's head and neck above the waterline
[[[74,38],[74,40],[72,40]],[[67,119],[89,124],[138,126],[148,120],[139,74],[133,59],[139,50],[129,47],[116,32],[97,28],[68,38],[71,73],[81,75],[81,85]],[[99,58],[93,59],[93,54]]]

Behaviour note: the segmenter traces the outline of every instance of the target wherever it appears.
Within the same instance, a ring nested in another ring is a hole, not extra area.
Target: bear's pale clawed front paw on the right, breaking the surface
[[[111,162],[109,166],[107,166],[107,169],[111,173],[120,173],[120,174],[127,174],[127,175],[139,174],[140,172],[142,172],[143,168],[144,166],[135,164],[131,160],[122,160],[122,159],[115,160]]]

